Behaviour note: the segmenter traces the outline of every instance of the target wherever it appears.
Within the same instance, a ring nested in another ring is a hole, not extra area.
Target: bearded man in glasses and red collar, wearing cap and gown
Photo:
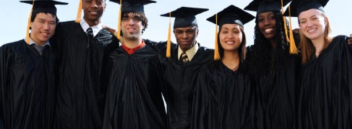
[[[154,2],[122,0],[122,46],[109,55],[103,129],[166,129],[159,53],[155,43],[142,40],[148,25],[143,7]]]

